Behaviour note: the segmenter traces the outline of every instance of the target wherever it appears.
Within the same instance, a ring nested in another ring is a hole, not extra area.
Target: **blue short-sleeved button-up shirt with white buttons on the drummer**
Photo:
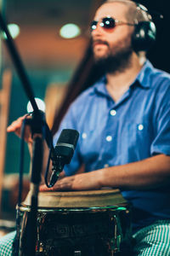
[[[156,154],[170,155],[170,75],[146,61],[119,101],[106,89],[105,77],[84,91],[63,119],[62,129],[76,129],[80,138],[70,176],[85,164],[85,172],[119,166]],[[137,170],[138,172],[138,170]],[[170,218],[170,189],[127,190],[122,195],[133,205],[133,228]]]

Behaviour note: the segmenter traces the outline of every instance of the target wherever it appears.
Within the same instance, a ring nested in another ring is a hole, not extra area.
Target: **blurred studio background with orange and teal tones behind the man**
[[[103,2],[0,0],[3,18],[24,62],[34,95],[46,103],[46,117],[53,132],[69,103],[99,75],[93,69],[88,28],[95,9]],[[167,0],[140,3],[164,16],[163,20],[155,20],[157,41],[148,57],[155,67],[170,72],[170,3]],[[20,139],[14,134],[7,134],[6,127],[27,112],[28,98],[8,54],[4,34],[2,31],[0,33],[0,217],[14,220]],[[30,157],[27,148],[24,163],[23,196],[29,189]]]

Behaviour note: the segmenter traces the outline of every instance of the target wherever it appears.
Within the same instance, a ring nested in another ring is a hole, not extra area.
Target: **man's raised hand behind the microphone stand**
[[[21,135],[21,126],[23,123],[24,119],[28,119],[31,118],[30,116],[24,115],[16,120],[14,120],[14,122],[8,126],[7,131],[8,132],[14,132],[18,137],[20,137]],[[32,138],[31,138],[31,129],[29,125],[26,125],[26,129],[25,129],[25,141],[26,143],[32,143]]]

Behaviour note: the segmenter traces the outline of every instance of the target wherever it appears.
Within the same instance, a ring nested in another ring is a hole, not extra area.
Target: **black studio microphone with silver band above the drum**
[[[74,150],[77,146],[78,137],[79,133],[77,130],[64,129],[61,131],[51,156],[53,173],[50,177],[50,188],[57,182],[59,173],[63,171],[64,166],[70,164]]]

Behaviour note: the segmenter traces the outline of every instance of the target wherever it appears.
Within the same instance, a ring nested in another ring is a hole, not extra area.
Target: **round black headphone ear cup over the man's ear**
[[[156,26],[152,21],[139,21],[134,28],[132,45],[134,51],[147,51],[156,41]]]

